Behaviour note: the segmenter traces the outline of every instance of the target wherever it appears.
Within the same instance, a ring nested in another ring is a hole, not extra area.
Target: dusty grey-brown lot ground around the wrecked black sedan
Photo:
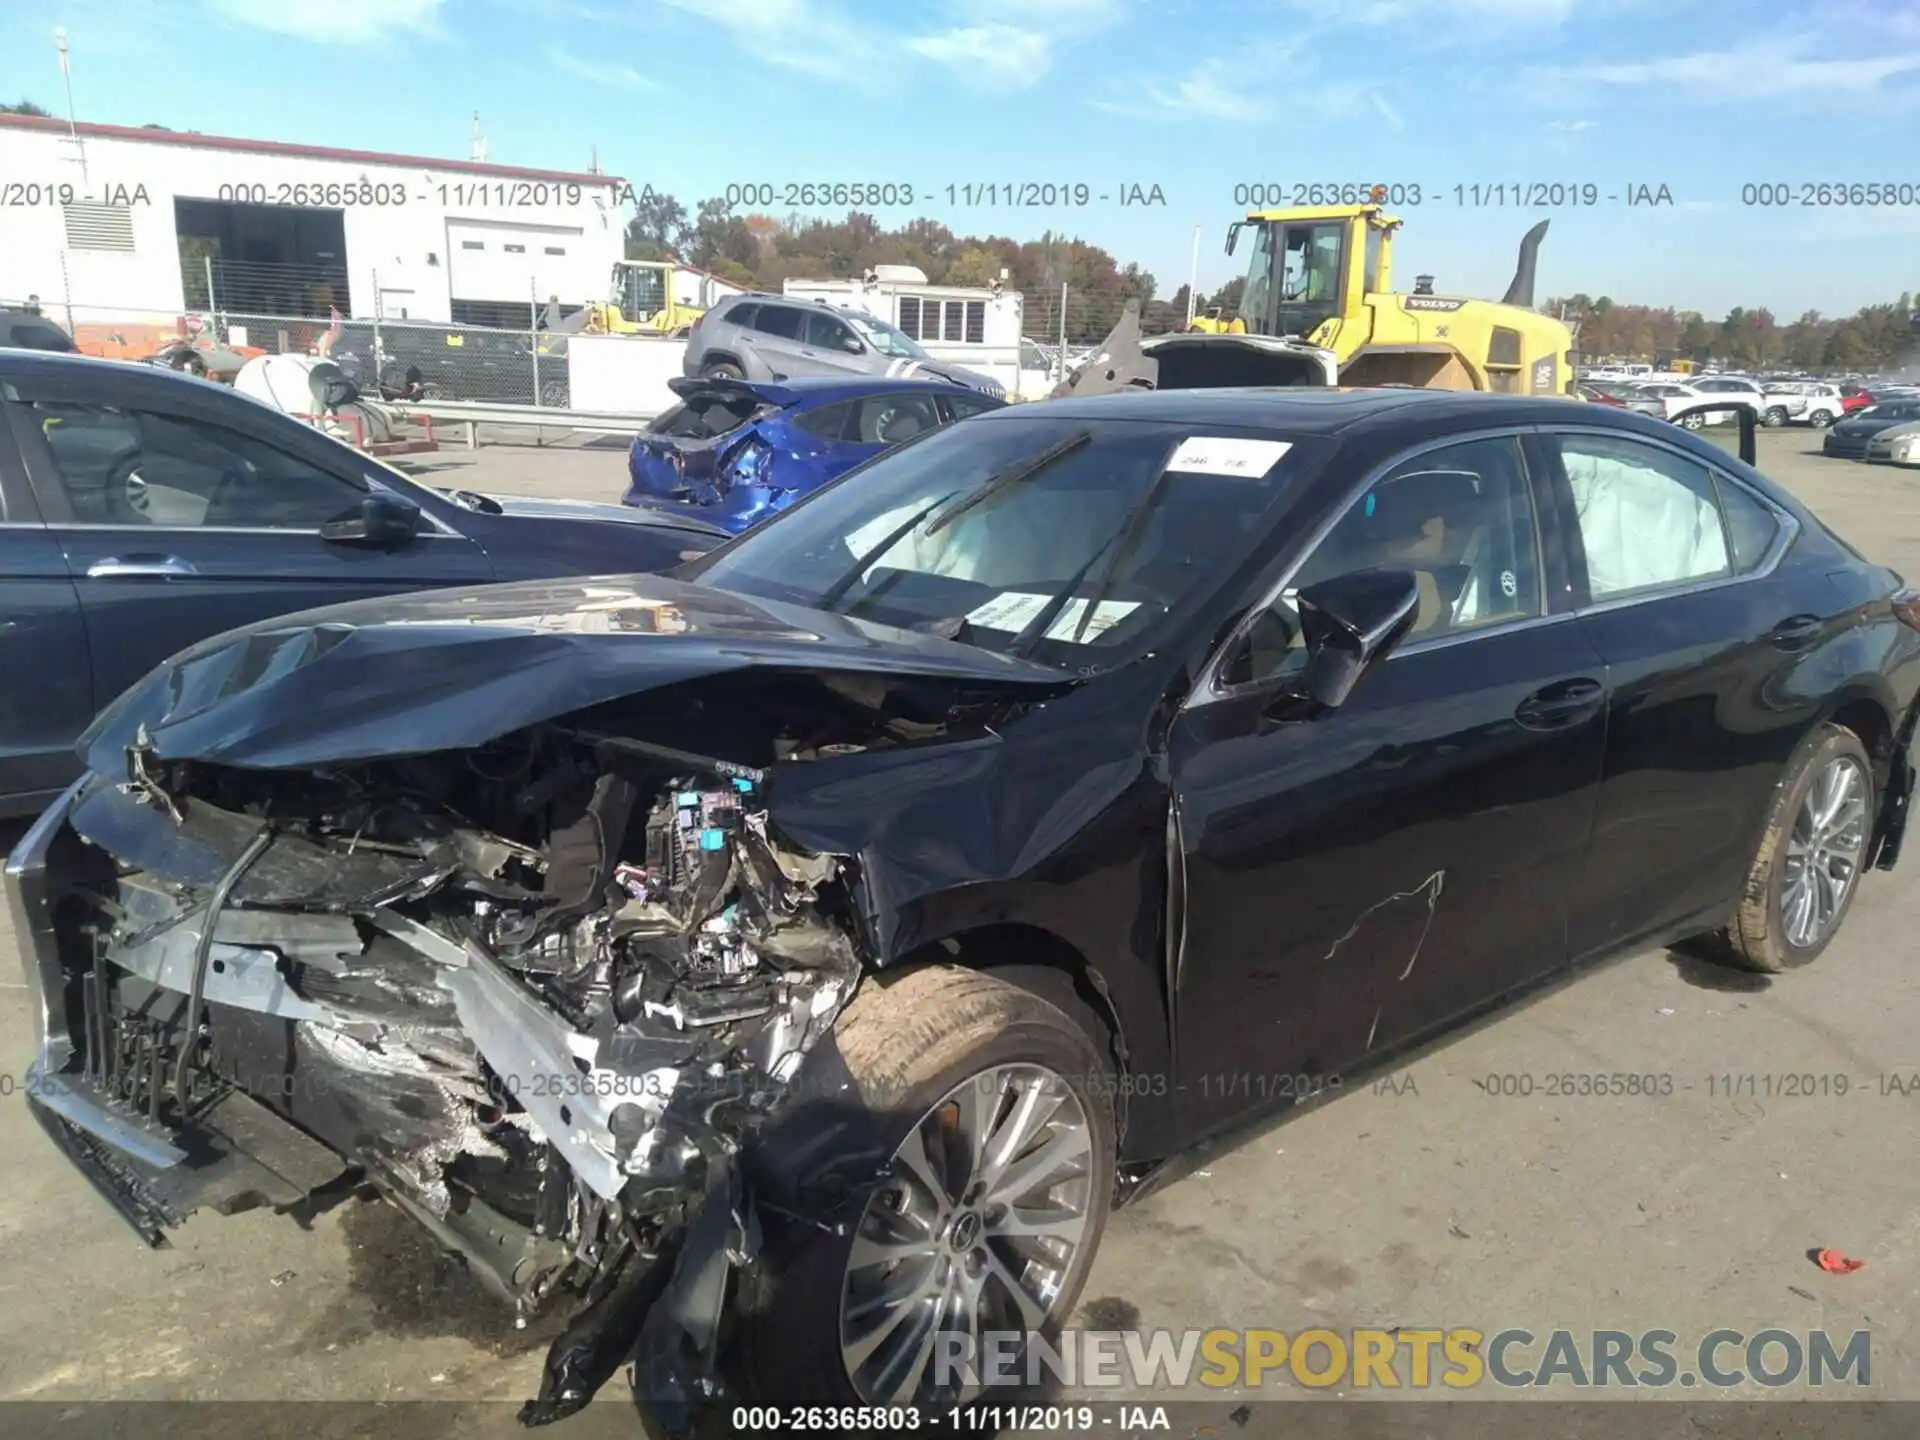
[[[1763,468],[1872,559],[1920,574],[1920,472],[1816,449],[1807,432],[1764,434]],[[624,445],[447,449],[413,468],[430,484],[616,499]],[[1764,981],[1632,956],[1415,1060],[1390,1087],[1354,1087],[1198,1160],[1114,1219],[1081,1323],[1668,1329],[1682,1354],[1722,1327],[1868,1329],[1872,1396],[1920,1400],[1920,1094],[1884,1092],[1884,1077],[1920,1075],[1916,866],[1868,877],[1809,972]],[[0,991],[13,1085],[29,1052],[19,995]],[[1544,1098],[1565,1071],[1672,1075],[1674,1092]],[[1851,1092],[1726,1098],[1709,1077],[1728,1073],[1847,1075]],[[1498,1075],[1532,1077],[1536,1094],[1488,1092]],[[200,1215],[173,1250],[146,1252],[17,1098],[0,1102],[0,1154],[4,1400],[467,1402],[194,1419],[257,1434],[353,1415],[353,1434],[428,1440],[507,1434],[511,1407],[484,1402],[538,1388],[547,1336],[516,1332],[386,1206],[348,1204],[305,1231]],[[1809,1260],[1818,1246],[1866,1267],[1826,1275]],[[8,1428],[86,1428],[65,1407],[6,1415]],[[1277,1425],[1256,1409],[1221,1432]],[[559,1438],[599,1432],[634,1432],[620,1382]]]

